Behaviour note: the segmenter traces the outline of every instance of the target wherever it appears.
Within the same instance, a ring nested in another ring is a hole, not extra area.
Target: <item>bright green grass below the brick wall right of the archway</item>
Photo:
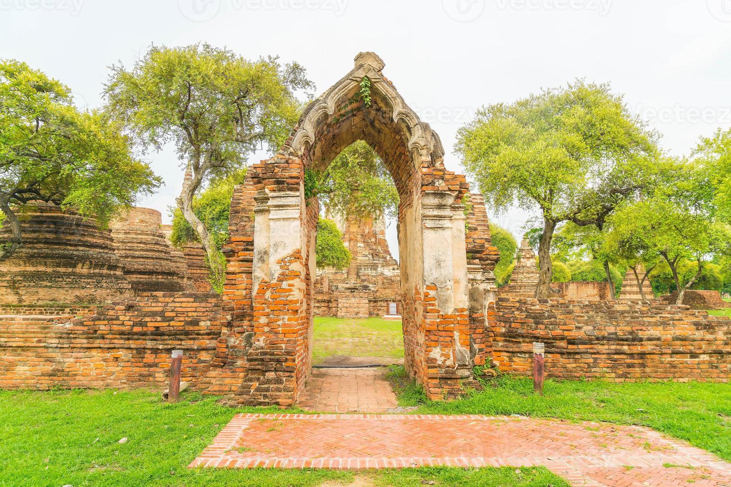
[[[420,406],[414,413],[423,414],[520,414],[649,426],[731,461],[731,384],[547,380],[544,396],[537,396],[531,379],[500,376],[485,381],[484,391],[452,402],[428,401],[411,382],[401,386],[398,399],[401,406]]]

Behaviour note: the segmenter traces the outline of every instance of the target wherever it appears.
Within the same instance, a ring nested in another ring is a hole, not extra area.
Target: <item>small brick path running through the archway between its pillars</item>
[[[326,413],[385,413],[398,406],[385,368],[313,369],[298,406]]]

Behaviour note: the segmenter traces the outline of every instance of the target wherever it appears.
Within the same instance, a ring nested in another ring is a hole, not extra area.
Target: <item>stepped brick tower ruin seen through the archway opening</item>
[[[329,217],[330,218],[330,217]],[[340,318],[401,312],[401,274],[386,242],[382,219],[335,218],[351,254],[347,269],[317,269],[315,314]]]

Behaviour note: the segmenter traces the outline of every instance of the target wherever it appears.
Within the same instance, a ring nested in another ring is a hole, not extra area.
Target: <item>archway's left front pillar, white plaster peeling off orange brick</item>
[[[254,201],[254,339],[245,386],[254,403],[289,405],[309,372],[303,197],[262,190]]]

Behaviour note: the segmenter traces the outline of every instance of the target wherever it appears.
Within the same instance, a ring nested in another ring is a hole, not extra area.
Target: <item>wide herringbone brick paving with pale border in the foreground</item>
[[[240,414],[190,467],[545,465],[575,486],[731,486],[731,464],[640,426],[481,415]]]

